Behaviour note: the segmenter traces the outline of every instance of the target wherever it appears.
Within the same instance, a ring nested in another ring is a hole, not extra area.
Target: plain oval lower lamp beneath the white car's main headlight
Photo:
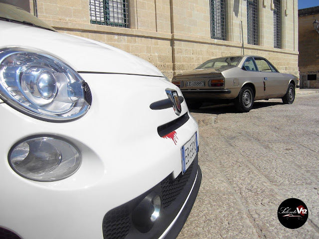
[[[22,177],[50,182],[71,176],[81,164],[78,150],[51,136],[34,137],[13,146],[8,155],[11,168]]]

